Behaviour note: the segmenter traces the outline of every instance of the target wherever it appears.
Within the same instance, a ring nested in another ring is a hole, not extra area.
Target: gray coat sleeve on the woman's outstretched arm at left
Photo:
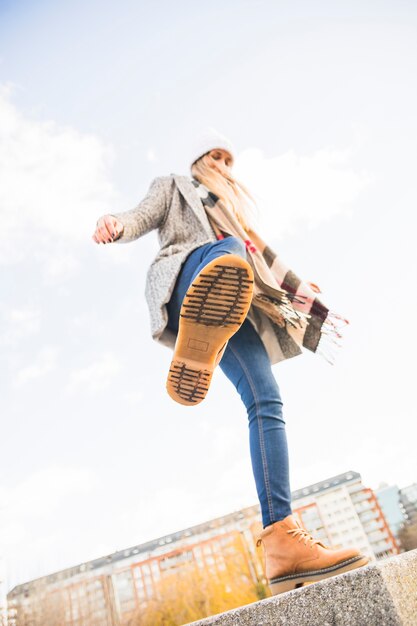
[[[148,193],[137,206],[123,213],[110,214],[123,224],[123,232],[114,242],[128,243],[158,228],[165,218],[166,211],[164,176],[157,176],[151,182]]]

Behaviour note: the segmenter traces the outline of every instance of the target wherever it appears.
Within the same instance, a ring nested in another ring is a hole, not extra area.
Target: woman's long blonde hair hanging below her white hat
[[[233,211],[246,231],[253,228],[256,219],[254,209],[257,209],[254,197],[242,182],[218,166],[210,152],[192,164],[191,174]]]

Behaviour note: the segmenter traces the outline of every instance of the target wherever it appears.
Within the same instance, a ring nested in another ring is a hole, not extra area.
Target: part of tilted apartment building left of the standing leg
[[[18,585],[8,594],[9,626],[119,626],[158,593],[158,582],[190,565],[221,572],[226,559],[256,582],[259,508],[193,526]]]

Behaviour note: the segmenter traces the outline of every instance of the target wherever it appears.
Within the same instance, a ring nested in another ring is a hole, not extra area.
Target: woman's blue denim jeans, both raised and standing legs
[[[244,242],[226,237],[193,250],[185,260],[168,303],[168,325],[174,332],[178,332],[179,312],[189,285],[209,261],[223,254],[246,259]],[[279,387],[265,346],[249,319],[229,339],[219,367],[247,410],[252,469],[265,528],[292,513],[288,447]]]

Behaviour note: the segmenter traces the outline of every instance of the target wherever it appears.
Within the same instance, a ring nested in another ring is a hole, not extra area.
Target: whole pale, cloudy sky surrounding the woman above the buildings
[[[350,319],[330,366],[274,366],[295,490],[417,480],[412,2],[0,2],[0,530],[7,588],[257,501],[216,373],[188,409],[144,299],[156,234],[98,217],[188,174],[212,125],[261,228]]]

